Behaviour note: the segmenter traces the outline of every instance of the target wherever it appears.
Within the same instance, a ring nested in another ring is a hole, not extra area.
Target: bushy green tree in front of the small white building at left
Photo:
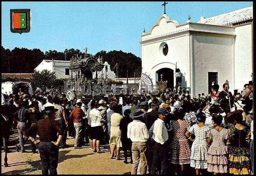
[[[32,86],[34,88],[42,88],[43,86],[45,86],[46,88],[50,88],[51,86],[55,85],[56,79],[57,76],[55,72],[51,72],[48,70],[42,70],[42,72],[38,72],[35,70],[32,79]]]

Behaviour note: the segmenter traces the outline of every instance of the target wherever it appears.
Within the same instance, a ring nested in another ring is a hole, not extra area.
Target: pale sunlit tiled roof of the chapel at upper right
[[[199,20],[197,23],[202,24],[213,24],[213,25],[231,25],[233,23],[242,22],[253,18],[253,9],[251,7],[246,7],[236,11],[224,13],[217,16],[212,16],[210,18],[204,18]]]

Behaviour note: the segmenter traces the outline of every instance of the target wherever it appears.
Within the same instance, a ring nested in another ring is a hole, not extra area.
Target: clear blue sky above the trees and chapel
[[[167,1],[168,2],[168,1]],[[2,46],[41,51],[87,48],[122,50],[141,57],[141,34],[163,15],[163,2],[2,2]],[[180,24],[252,6],[251,2],[168,2],[166,14]],[[11,33],[10,9],[31,9],[29,33]]]

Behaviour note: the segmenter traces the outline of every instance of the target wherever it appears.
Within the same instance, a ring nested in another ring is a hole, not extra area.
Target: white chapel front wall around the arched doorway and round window
[[[160,49],[160,44],[162,42],[167,43],[168,53],[163,55],[162,49]],[[143,73],[150,74],[153,84],[156,85],[156,71],[161,68],[170,68],[174,70],[175,64],[177,62],[177,68],[180,68],[182,75],[185,76],[182,79],[182,87],[189,86],[189,75],[188,71],[188,39],[187,35],[167,38],[165,40],[157,41],[150,44],[142,45],[142,69]],[[166,75],[164,75],[166,76]],[[169,76],[169,75],[168,75]],[[175,78],[174,78],[175,85]]]

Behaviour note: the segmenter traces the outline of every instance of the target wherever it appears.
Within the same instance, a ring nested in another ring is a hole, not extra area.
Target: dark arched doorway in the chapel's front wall
[[[167,81],[167,87],[173,88],[174,87],[174,74],[173,70],[170,68],[161,68],[160,70],[156,71],[156,81],[161,80]]]

